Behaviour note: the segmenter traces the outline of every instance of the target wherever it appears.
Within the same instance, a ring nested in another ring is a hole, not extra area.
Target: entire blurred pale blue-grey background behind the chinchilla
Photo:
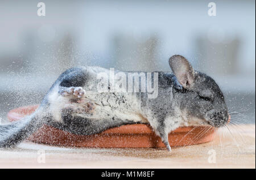
[[[187,57],[255,123],[255,1],[0,1],[0,117],[38,104],[72,66],[171,71]]]

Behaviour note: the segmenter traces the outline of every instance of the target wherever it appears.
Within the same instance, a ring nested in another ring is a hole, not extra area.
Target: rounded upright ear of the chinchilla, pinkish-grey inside
[[[169,64],[177,80],[185,89],[189,89],[193,86],[195,81],[195,73],[191,64],[186,58],[184,58],[182,55],[173,55],[169,59]]]

